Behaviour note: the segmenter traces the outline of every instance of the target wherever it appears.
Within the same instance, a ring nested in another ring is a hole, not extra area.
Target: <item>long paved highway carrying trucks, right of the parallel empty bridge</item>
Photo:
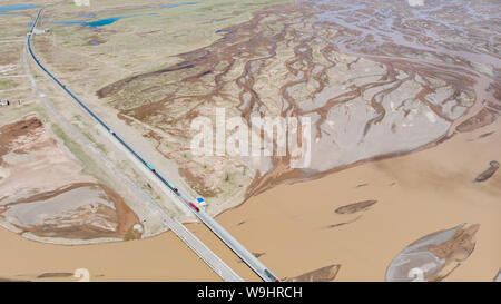
[[[210,215],[208,215],[204,208],[194,208],[190,203],[195,204],[194,206],[198,206],[196,199],[189,197],[189,195],[185,195],[180,192],[180,189],[176,188],[173,184],[170,184],[157,169],[154,168],[151,164],[149,164],[144,157],[141,157],[129,144],[125,141],[125,139],[116,134],[110,126],[108,126],[92,109],[90,109],[82,100],[80,100],[71,90],[69,90],[59,79],[53,76],[37,58],[32,48],[31,48],[31,38],[33,36],[33,30],[40,20],[40,16],[43,9],[40,9],[35,21],[31,24],[31,29],[28,32],[27,45],[28,50],[37,62],[37,65],[56,82],[75,101],[77,101],[80,107],[84,108],[86,112],[88,112],[99,125],[101,125],[109,134],[112,135],[136,159],[138,159],[145,167],[148,168],[164,185],[166,185],[178,199],[186,205],[195,216],[204,223],[223,243],[226,244],[247,266],[253,269],[263,281],[265,282],[277,282],[279,281],[266,266],[261,263],[247,248],[245,248],[235,237],[233,237],[219,223],[217,223]]]

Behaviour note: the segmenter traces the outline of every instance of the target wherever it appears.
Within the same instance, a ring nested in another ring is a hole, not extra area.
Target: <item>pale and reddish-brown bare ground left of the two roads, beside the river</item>
[[[3,225],[42,237],[140,237],[134,231],[138,218],[122,198],[82,176],[39,118],[23,117],[2,126],[0,143]],[[57,174],[47,179],[51,173]]]

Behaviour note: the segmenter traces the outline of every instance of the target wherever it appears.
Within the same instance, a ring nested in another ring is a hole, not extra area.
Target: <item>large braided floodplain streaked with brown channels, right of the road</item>
[[[210,46],[180,53],[181,62],[116,81],[97,95],[126,122],[147,126],[144,135],[208,198],[238,188],[248,198],[286,180],[430,147],[499,116],[497,49],[475,43],[468,49],[465,41],[477,37],[465,24],[454,24],[462,40],[443,41],[452,36],[446,23],[433,27],[433,37],[414,24],[423,19],[435,26],[433,11],[414,16],[402,8],[384,17],[375,10],[390,13],[391,3],[343,9],[333,3],[261,10],[248,22],[223,29]],[[465,13],[459,3],[445,9]],[[429,50],[429,39],[440,47]],[[190,158],[190,118],[214,116],[216,107],[242,115],[247,125],[254,115],[311,117],[312,164],[294,169],[288,157]]]

